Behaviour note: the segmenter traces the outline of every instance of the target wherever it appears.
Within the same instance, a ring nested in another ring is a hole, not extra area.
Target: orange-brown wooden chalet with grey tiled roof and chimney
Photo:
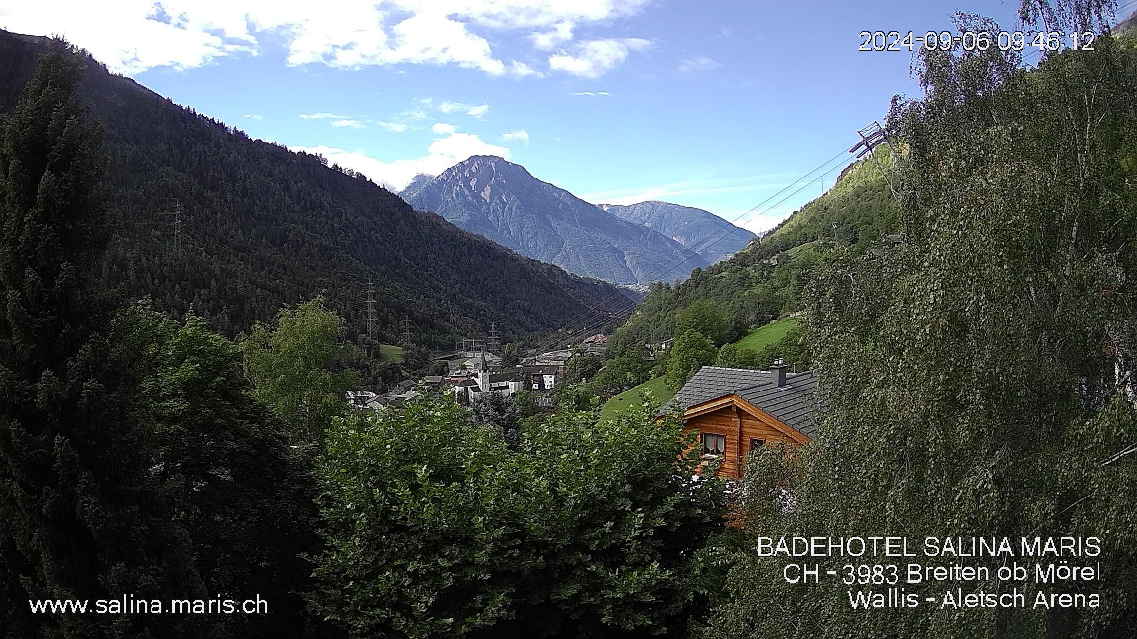
[[[766,443],[800,446],[816,433],[813,371],[787,373],[704,366],[661,409],[683,407],[684,430],[696,431],[704,459],[722,458],[719,476],[740,479],[749,453]]]

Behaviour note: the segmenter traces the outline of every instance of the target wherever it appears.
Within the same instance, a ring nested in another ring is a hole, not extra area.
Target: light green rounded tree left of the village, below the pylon
[[[348,409],[347,391],[359,387],[349,366],[360,354],[345,334],[343,318],[316,298],[282,310],[275,329],[258,323],[241,340],[256,396],[284,420],[294,443],[318,447],[331,418]]]

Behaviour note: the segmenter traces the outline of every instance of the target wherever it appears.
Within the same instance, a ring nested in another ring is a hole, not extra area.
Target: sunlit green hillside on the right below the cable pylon
[[[877,157],[888,166],[887,147]],[[653,340],[674,332],[675,316],[700,300],[750,326],[802,309],[810,271],[837,252],[883,249],[896,229],[896,204],[880,169],[865,158],[846,169],[837,184],[730,259],[697,269],[675,287],[653,285],[639,302],[623,340]],[[661,299],[661,296],[663,299]]]

